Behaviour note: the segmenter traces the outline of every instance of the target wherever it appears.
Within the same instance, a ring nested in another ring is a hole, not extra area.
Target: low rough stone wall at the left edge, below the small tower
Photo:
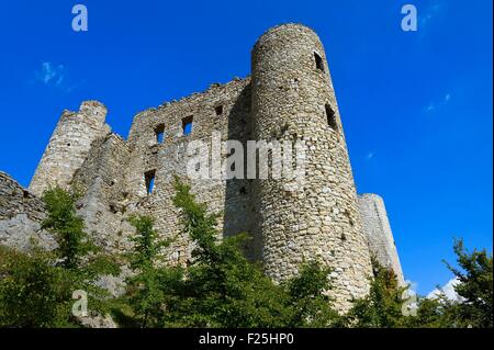
[[[43,202],[0,171],[0,245],[26,251],[34,239],[42,247],[53,248],[54,239],[41,230],[44,217]]]

